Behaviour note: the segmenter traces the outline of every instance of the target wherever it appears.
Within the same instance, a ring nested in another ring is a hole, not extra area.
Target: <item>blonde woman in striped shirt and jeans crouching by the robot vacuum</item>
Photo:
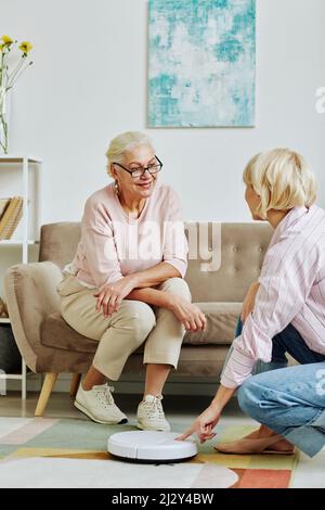
[[[291,454],[297,446],[312,457],[325,445],[325,212],[314,205],[314,175],[296,152],[255,156],[244,181],[252,218],[268,220],[274,234],[220,388],[180,438],[194,432],[202,442],[212,438],[237,388],[239,406],[261,426],[217,450]],[[300,365],[287,368],[286,353]],[[251,377],[259,360],[262,373]]]

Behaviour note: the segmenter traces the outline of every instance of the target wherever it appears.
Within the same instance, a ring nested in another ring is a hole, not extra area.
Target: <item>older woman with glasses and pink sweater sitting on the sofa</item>
[[[183,280],[187,244],[176,192],[158,183],[162,163],[151,140],[125,132],[108,148],[114,183],[86,202],[81,240],[57,286],[65,321],[99,346],[75,406],[99,423],[125,423],[113,388],[128,357],[144,344],[146,380],[138,426],[169,431],[164,384],[177,368],[185,331],[206,319]]]

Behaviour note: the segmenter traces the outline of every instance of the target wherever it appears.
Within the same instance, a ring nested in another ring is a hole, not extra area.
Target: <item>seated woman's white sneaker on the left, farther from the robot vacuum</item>
[[[114,403],[112,392],[114,387],[108,386],[107,383],[93,386],[89,391],[83,390],[80,384],[74,403],[75,407],[98,423],[108,425],[127,423],[128,419]]]

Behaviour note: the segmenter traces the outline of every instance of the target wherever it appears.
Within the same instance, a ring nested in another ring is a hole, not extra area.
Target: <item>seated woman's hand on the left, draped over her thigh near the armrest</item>
[[[132,276],[123,277],[115,283],[104,285],[99,292],[93,294],[96,298],[96,311],[103,313],[105,317],[110,317],[118,311],[120,302],[133,291],[135,282]]]

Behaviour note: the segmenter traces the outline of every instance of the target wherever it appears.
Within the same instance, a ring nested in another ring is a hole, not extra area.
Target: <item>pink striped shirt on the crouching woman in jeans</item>
[[[295,207],[280,222],[265,254],[253,311],[221,377],[237,387],[257,360],[269,362],[272,339],[291,323],[307,345],[325,356],[325,211]]]

